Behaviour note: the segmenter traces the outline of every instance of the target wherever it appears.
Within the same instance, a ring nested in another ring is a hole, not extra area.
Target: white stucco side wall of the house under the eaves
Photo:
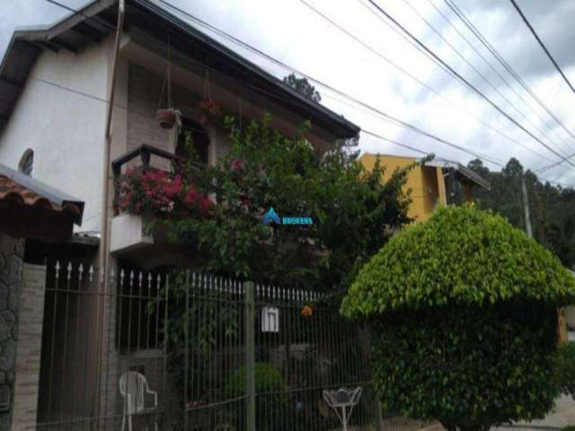
[[[109,41],[77,55],[45,50],[0,134],[0,163],[17,169],[31,148],[32,177],[84,201],[76,231],[100,231],[109,55]]]

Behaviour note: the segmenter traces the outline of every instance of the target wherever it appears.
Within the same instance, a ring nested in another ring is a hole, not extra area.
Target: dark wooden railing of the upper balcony
[[[155,156],[154,163],[152,156]],[[137,164],[137,161],[135,161],[138,158],[139,164]],[[156,158],[159,160],[156,161]],[[112,161],[111,169],[114,174],[115,184],[114,214],[119,214],[119,184],[127,180],[127,173],[123,168],[128,167],[128,164],[134,167],[135,171],[130,172],[130,174],[133,174],[134,172],[146,172],[155,170],[168,171],[172,169],[174,162],[183,163],[186,161],[187,159],[184,157],[147,144],[140,145]]]

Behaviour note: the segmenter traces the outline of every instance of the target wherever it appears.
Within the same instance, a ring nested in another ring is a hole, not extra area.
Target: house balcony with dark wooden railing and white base
[[[140,145],[136,149],[120,156],[111,163],[114,175],[114,216],[111,220],[111,252],[134,256],[145,256],[152,251],[144,251],[150,246],[166,247],[167,237],[158,229],[148,232],[146,229],[146,214],[132,214],[121,205],[122,185],[134,175],[145,172],[172,172],[175,163],[186,162],[186,159],[156,148],[151,145]],[[137,253],[135,253],[137,251]]]

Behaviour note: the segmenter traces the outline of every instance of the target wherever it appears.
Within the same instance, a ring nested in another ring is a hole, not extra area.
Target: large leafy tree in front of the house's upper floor
[[[231,150],[217,164],[182,173],[216,203],[208,217],[164,221],[174,241],[198,247],[211,272],[253,281],[346,289],[354,271],[408,223],[407,170],[382,183],[383,168],[366,172],[341,147],[321,154],[305,138],[270,128],[270,117],[238,128],[226,119]],[[261,223],[308,216],[312,226]]]

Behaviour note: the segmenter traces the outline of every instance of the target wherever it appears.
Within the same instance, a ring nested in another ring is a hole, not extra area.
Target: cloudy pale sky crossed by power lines
[[[59,1],[73,8],[85,3]],[[516,157],[524,167],[536,172],[559,162],[557,154],[575,154],[575,116],[571,115],[575,93],[509,0],[451,1],[499,52],[531,94],[482,46],[449,9],[446,0],[375,2],[554,153],[414,48],[367,0],[167,1],[380,112],[497,163],[505,164],[510,157]],[[575,2],[517,0],[517,4],[575,84]],[[170,10],[169,6],[164,7]],[[176,11],[170,12],[188,20]],[[4,55],[14,28],[48,24],[66,13],[46,0],[0,0],[0,54]],[[283,77],[290,72],[232,42],[217,36],[216,39],[274,75]],[[364,130],[459,163],[466,164],[474,158],[400,127],[328,88],[315,86],[325,106]],[[359,148],[369,153],[421,155],[366,133],[360,136]],[[575,157],[572,160],[575,164]],[[500,170],[496,163],[484,163],[491,170]],[[540,178],[575,186],[575,168],[562,163],[542,172]]]

